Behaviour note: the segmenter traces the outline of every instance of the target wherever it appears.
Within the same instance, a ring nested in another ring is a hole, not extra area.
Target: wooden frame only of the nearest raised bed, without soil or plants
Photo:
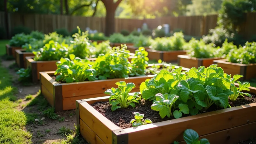
[[[250,87],[256,93],[255,87]],[[256,136],[256,103],[121,129],[90,104],[108,101],[109,96],[76,101],[76,120],[81,135],[91,144],[186,144],[183,133],[193,129],[199,139],[212,144],[236,144]]]

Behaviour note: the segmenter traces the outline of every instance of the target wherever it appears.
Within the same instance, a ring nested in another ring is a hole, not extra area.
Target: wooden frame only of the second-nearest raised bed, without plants
[[[152,66],[153,64],[149,64]],[[176,66],[178,68],[178,66]],[[183,68],[187,71],[187,68]],[[55,111],[72,110],[76,109],[76,100],[100,97],[105,95],[104,92],[111,88],[116,87],[116,82],[125,81],[126,83],[132,82],[136,87],[133,92],[140,91],[140,84],[153,78],[155,75],[130,77],[128,79],[109,79],[109,80],[95,80],[73,83],[58,83],[51,76],[54,72],[40,72],[40,87],[41,93],[47,101],[55,107]]]

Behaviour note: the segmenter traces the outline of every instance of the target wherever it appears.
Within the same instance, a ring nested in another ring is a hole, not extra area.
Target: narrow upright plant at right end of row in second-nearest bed
[[[142,76],[145,75],[146,66],[148,64],[148,52],[143,48],[140,47],[139,49],[135,50],[136,58],[132,58],[131,66],[132,66],[132,73],[131,76]]]

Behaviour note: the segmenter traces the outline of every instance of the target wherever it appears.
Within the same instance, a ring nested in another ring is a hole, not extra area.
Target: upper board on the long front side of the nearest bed
[[[236,126],[253,123],[256,117],[252,115],[256,103],[183,117],[164,122],[124,129],[129,133],[129,143],[172,143],[182,141],[186,129],[193,129],[199,135],[206,135]],[[161,138],[161,139],[160,139]]]

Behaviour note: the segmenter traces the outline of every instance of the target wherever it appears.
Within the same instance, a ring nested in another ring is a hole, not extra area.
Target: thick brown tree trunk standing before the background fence
[[[106,36],[109,36],[110,34],[115,33],[115,11],[116,8],[113,6],[106,7]]]

